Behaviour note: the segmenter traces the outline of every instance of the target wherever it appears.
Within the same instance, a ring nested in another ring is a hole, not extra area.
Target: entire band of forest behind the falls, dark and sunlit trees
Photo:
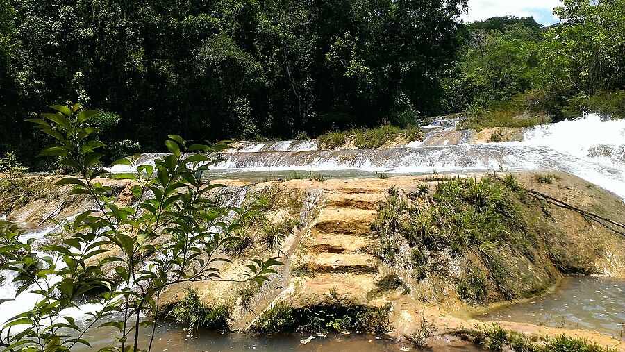
[[[466,0],[0,0],[0,151],[46,144],[52,103],[97,116],[109,153],[188,138],[293,138],[467,112],[625,115],[625,0],[561,22],[465,24]]]

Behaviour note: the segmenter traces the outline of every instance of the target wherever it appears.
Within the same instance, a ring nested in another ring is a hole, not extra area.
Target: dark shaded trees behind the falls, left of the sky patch
[[[1,0],[3,144],[68,99],[117,140],[290,137],[434,113],[465,0]],[[6,19],[6,20],[5,20]]]

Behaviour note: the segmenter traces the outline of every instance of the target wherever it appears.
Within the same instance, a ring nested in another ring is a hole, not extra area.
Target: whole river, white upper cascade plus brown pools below
[[[429,127],[428,131],[433,133],[445,129]],[[356,178],[433,172],[554,170],[584,178],[625,199],[625,120],[609,121],[588,115],[574,121],[528,128],[523,135],[522,142],[472,145],[462,139],[449,146],[420,146],[411,142],[408,146],[390,149],[319,150],[316,141],[249,142],[239,151],[222,153],[224,161],[213,167],[211,177],[264,181],[306,177],[308,173],[324,178]],[[146,154],[141,162],[153,164],[162,156]],[[121,173],[128,169],[116,166],[109,171]],[[31,231],[29,236],[40,240],[49,231],[53,228]],[[0,285],[0,299],[14,296],[12,276],[6,276]],[[568,278],[549,296],[494,310],[481,319],[586,328],[623,338],[624,290],[625,283],[619,280]],[[33,295],[24,292],[17,297],[19,304],[3,305],[0,318],[4,321],[27,310],[28,304],[36,299]],[[84,311],[77,311],[76,316],[84,316]],[[199,338],[190,339],[181,326],[163,324],[155,341],[155,351],[290,351],[301,349],[303,338],[306,336],[256,337],[201,332]],[[94,347],[104,346],[111,339],[110,333],[101,331],[88,338]],[[400,347],[397,343],[364,335],[332,335],[306,344],[309,351],[397,351]]]

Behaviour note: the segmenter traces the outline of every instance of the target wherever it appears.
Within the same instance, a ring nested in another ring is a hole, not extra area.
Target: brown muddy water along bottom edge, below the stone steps
[[[94,330],[85,336],[92,348],[81,347],[72,351],[97,351],[103,346],[113,344],[113,330]],[[147,349],[149,344],[149,332],[142,330],[140,347]],[[151,330],[150,330],[151,331]],[[158,327],[153,340],[151,351],[405,351],[408,346],[401,342],[384,340],[371,335],[328,335],[315,337],[306,344],[301,340],[310,335],[275,335],[262,337],[242,333],[217,334],[199,330],[197,338],[187,337],[183,326],[164,323]],[[444,338],[433,343],[428,351],[482,351],[475,346],[463,342],[447,342]]]

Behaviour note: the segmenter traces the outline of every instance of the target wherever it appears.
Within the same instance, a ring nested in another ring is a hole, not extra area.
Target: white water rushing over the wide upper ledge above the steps
[[[442,121],[442,131],[451,127]],[[460,131],[461,132],[461,131]],[[436,133],[436,132],[433,132]],[[465,133],[467,135],[467,133]],[[391,149],[317,150],[313,141],[271,142],[254,144],[244,152],[222,153],[224,162],[213,166],[220,176],[228,172],[283,172],[358,170],[392,174],[437,172],[477,172],[489,170],[552,170],[574,174],[610,190],[625,199],[625,120],[605,120],[597,115],[535,126],[524,131],[522,142],[420,146],[410,143]],[[260,151],[252,151],[259,149]],[[142,163],[153,164],[164,154],[146,154]],[[127,172],[117,165],[111,172]]]

